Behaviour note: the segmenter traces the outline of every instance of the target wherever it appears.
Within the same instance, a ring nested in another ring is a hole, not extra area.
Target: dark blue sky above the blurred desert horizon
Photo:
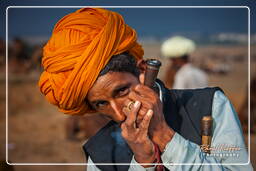
[[[139,1],[138,5],[144,5]],[[231,0],[230,0],[231,1]],[[255,16],[255,7],[251,1],[194,1],[194,5],[239,5],[239,8],[141,8],[141,7],[123,7],[123,8],[111,8],[110,10],[117,11],[124,17],[126,23],[133,27],[140,37],[166,37],[177,33],[190,33],[190,34],[217,34],[217,33],[248,33],[248,16],[251,18]],[[60,1],[59,1],[60,2]],[[57,3],[54,0],[23,0],[20,1],[5,1],[1,3],[1,16],[2,21],[5,21],[6,15],[8,21],[8,36],[13,37],[26,37],[26,36],[50,36],[54,24],[61,19],[64,15],[75,11],[75,8],[17,8],[9,7],[4,13],[7,6],[20,6],[20,5],[100,5],[100,6],[116,6],[116,5],[137,5],[123,3],[120,1],[108,0],[108,4],[103,3],[104,1],[82,1],[74,0],[71,1],[62,0],[62,4]],[[75,2],[75,3],[74,3]],[[93,3],[94,2],[94,3]],[[95,3],[97,2],[97,3]],[[106,1],[105,1],[106,2]],[[122,1],[124,2],[124,1]],[[134,1],[133,1],[134,2]],[[154,1],[146,1],[148,5],[170,5],[159,1],[159,4],[154,4]],[[167,2],[167,1],[165,1]],[[191,1],[169,1],[171,5],[189,5]],[[176,2],[176,3],[174,3]],[[181,3],[183,2],[183,3]],[[208,2],[208,3],[206,3]],[[218,2],[218,3],[216,3]],[[221,2],[221,3],[220,3]],[[248,2],[248,3],[244,3]],[[248,6],[241,7],[241,6]],[[256,5],[255,5],[256,6]],[[254,21],[254,20],[251,20]],[[255,22],[251,22],[251,32],[256,32]],[[4,25],[3,25],[4,26]],[[0,37],[5,37],[5,28],[0,28]]]

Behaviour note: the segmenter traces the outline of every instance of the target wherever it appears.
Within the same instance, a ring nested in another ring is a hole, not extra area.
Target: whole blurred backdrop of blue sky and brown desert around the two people
[[[9,3],[15,5],[13,1]],[[47,5],[55,5],[50,1],[48,3]],[[1,9],[5,10],[8,6],[6,4],[2,5]],[[33,5],[40,5],[40,3]],[[87,4],[77,1],[72,5]],[[249,142],[251,143],[251,160],[256,167],[255,106],[251,106],[251,130],[248,130],[247,108],[248,16],[252,15],[252,12],[250,14],[246,7],[115,7],[109,9],[121,13],[126,23],[137,31],[139,42],[145,50],[145,58],[158,58],[162,61],[159,78],[169,88],[172,87],[170,79],[172,74],[167,73],[169,64],[161,56],[161,43],[170,36],[176,35],[186,36],[195,41],[197,49],[192,54],[191,60],[194,65],[207,73],[209,85],[221,87],[231,100],[242,123],[246,143],[248,143],[248,131],[251,132],[251,142]],[[37,86],[42,71],[40,65],[42,47],[49,39],[54,24],[64,15],[75,10],[76,8],[9,7],[6,14],[1,15],[3,21],[7,15],[8,21],[7,30],[4,27],[0,28],[1,160],[5,159],[5,31],[8,31],[7,150],[9,162],[86,162],[81,146],[94,133],[94,128],[102,125],[104,121],[98,115],[70,118],[60,113],[56,107],[48,104]],[[251,28],[250,66],[251,82],[253,82],[253,79],[256,80],[255,23],[251,23]],[[251,103],[255,103],[255,88],[254,81],[254,85],[251,85],[251,98],[254,98],[254,101]],[[14,166],[14,169],[18,171],[45,169],[80,171],[84,170],[85,166]]]

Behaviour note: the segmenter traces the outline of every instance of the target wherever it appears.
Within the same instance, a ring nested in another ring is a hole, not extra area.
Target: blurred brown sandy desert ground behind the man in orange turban
[[[160,45],[144,45],[145,56],[160,57]],[[251,48],[253,49],[253,48]],[[255,49],[255,47],[254,47]],[[247,97],[248,87],[248,51],[246,46],[202,46],[192,59],[195,65],[202,67],[206,62],[229,66],[226,73],[209,72],[209,85],[221,87],[237,111]],[[251,75],[256,74],[256,53],[251,52]],[[165,79],[166,60],[159,78]],[[204,64],[198,61],[206,61]],[[41,95],[37,86],[38,72],[8,75],[7,136],[8,161],[11,163],[85,163],[82,145],[86,139],[67,138],[66,122],[69,116],[49,104]],[[0,158],[5,159],[6,93],[5,73],[0,79]],[[244,132],[246,144],[248,134]],[[83,137],[83,136],[82,136]],[[84,136],[85,137],[85,136]],[[251,134],[251,160],[256,167],[256,134]],[[54,165],[29,166],[15,165],[15,171],[82,171],[85,166]]]

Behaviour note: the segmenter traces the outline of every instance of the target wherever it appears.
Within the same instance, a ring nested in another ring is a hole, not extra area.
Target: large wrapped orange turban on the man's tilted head
[[[121,15],[83,8],[63,17],[43,48],[40,91],[66,114],[85,114],[85,100],[100,71],[113,55],[128,51],[143,56],[135,30]]]

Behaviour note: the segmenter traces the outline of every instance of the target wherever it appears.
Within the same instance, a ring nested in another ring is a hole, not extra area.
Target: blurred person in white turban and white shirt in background
[[[172,75],[172,78],[165,80],[173,82],[173,89],[194,89],[208,86],[207,75],[189,62],[189,55],[194,50],[195,43],[181,36],[172,37],[162,44],[162,55],[171,62],[166,75],[167,77]]]

